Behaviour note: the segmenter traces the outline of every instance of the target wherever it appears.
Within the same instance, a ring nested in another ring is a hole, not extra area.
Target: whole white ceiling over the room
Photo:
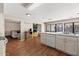
[[[33,3],[29,7],[23,7],[21,3],[5,3],[4,13],[6,18],[15,21],[55,21],[79,17],[79,3]],[[26,16],[26,13],[31,13],[31,16]]]

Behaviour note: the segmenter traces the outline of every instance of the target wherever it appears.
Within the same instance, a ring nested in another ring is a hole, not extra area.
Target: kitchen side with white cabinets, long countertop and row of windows
[[[41,42],[70,55],[79,55],[79,17],[45,23]]]

